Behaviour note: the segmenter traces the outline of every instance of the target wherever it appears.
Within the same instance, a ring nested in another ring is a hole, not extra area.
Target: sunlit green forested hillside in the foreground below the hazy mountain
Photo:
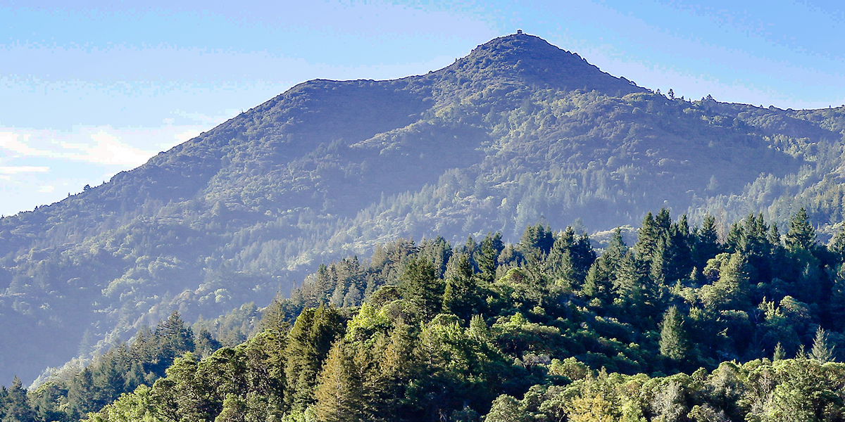
[[[172,315],[73,378],[3,390],[0,416],[845,420],[845,234],[820,245],[803,209],[785,235],[750,214],[719,241],[666,209],[639,234],[600,255],[544,225],[391,242],[321,266],[243,344]]]

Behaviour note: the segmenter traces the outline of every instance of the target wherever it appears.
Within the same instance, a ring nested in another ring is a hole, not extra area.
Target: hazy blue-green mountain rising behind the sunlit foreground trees
[[[111,181],[0,219],[0,379],[287,293],[397,237],[649,210],[842,220],[845,108],[690,101],[526,34],[425,75],[299,84]],[[579,221],[575,219],[581,218]]]

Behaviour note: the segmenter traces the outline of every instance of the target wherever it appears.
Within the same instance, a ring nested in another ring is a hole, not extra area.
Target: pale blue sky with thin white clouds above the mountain
[[[52,203],[312,78],[427,73],[525,30],[677,95],[845,104],[837,2],[7,2],[0,214]]]

